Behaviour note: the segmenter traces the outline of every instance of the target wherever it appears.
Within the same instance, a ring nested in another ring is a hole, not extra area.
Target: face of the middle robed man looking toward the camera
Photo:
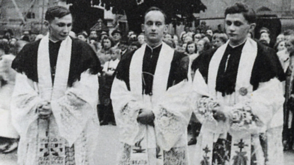
[[[164,14],[156,10],[148,12],[142,29],[145,32],[147,44],[150,46],[159,45],[163,39],[164,32],[167,31]]]

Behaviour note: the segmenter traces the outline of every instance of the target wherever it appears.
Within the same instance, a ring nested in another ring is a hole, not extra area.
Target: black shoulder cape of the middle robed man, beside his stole
[[[132,51],[122,56],[115,72],[116,78],[124,81],[129,91],[130,91],[130,79],[129,79],[130,62],[134,53],[135,51]],[[178,84],[182,80],[188,79],[187,77],[188,65],[189,65],[189,57],[185,53],[175,51],[174,57],[172,59],[171,66],[170,66],[167,89],[173,85]]]

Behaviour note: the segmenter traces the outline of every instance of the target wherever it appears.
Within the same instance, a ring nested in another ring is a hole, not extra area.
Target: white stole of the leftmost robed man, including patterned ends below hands
[[[45,36],[40,41],[37,57],[38,83],[34,85],[39,96],[48,102],[65,95],[71,59],[71,46],[72,40],[70,37],[67,37],[60,44],[53,85],[49,59],[49,36]],[[52,108],[53,115],[55,111],[57,109]],[[42,152],[37,152],[37,163],[65,164],[65,145],[67,142],[64,138],[61,138],[58,124],[54,117],[51,116],[47,120],[38,119],[37,122],[37,151],[42,150]],[[73,142],[69,143],[72,144]],[[58,156],[54,153],[58,153]],[[45,154],[48,154],[48,156],[45,157]]]

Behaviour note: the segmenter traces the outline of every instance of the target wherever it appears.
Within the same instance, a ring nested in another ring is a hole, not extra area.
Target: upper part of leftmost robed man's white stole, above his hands
[[[49,59],[49,36],[43,37],[40,41],[37,58],[38,87],[40,96],[48,102],[64,96],[67,89],[71,46],[70,37],[60,44],[53,86]]]

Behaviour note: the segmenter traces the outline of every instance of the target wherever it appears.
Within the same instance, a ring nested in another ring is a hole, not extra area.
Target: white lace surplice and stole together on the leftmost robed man
[[[69,43],[71,47],[71,42],[66,39],[60,46],[52,87],[49,55],[44,48],[47,43],[45,37],[39,46],[44,52],[43,55],[38,53],[39,82],[33,82],[25,74],[16,75],[11,106],[12,122],[20,134],[18,163],[95,164],[99,128],[95,92],[98,90],[97,75],[87,70],[72,87],[67,87],[64,74],[69,71],[66,67],[69,67],[70,49],[66,48]],[[38,119],[36,113],[36,106],[44,101],[51,102],[53,112],[46,120]]]

